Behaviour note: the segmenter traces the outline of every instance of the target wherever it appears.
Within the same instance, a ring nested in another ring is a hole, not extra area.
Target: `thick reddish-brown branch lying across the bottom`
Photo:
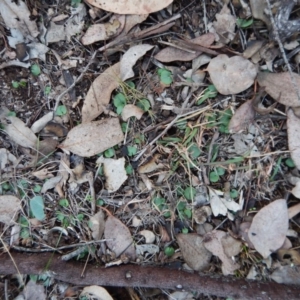
[[[66,262],[56,254],[11,253],[19,271],[23,274],[50,272],[57,280],[75,285],[156,287],[162,289],[185,289],[207,295],[234,299],[300,299],[300,288],[274,282],[246,281],[232,277],[212,278],[184,271],[159,267],[123,265],[112,268],[89,264],[84,277],[80,277],[84,264]],[[47,269],[46,269],[46,266]],[[8,254],[0,256],[0,274],[16,274],[17,270]],[[181,288],[180,288],[181,287]]]

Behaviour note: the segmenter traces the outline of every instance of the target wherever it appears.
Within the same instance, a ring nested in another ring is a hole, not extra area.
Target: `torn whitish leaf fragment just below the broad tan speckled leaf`
[[[112,159],[101,156],[97,159],[97,164],[103,164],[105,188],[109,193],[117,191],[128,178],[124,157]]]

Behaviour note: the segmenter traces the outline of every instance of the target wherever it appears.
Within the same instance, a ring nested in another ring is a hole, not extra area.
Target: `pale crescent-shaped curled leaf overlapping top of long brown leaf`
[[[154,46],[148,44],[136,45],[129,48],[120,61],[120,75],[122,81],[125,81],[134,76],[132,68],[142,56]]]

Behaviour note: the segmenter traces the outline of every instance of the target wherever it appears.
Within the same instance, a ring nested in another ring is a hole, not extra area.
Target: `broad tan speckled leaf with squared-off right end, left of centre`
[[[74,127],[59,147],[82,157],[90,157],[117,145],[123,139],[119,120],[111,118]]]

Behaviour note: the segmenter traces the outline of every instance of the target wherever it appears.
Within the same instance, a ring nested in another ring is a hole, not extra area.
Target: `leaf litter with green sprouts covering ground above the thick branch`
[[[0,222],[6,238],[15,235],[10,246],[37,250],[50,226],[76,232],[71,245],[90,238],[70,257],[107,267],[176,262],[251,277],[255,266],[256,278],[298,284],[299,75],[282,67],[276,43],[249,35],[257,18],[272,39],[264,3],[250,1],[252,12],[219,3],[204,24],[193,4],[194,35],[182,36],[173,1],[87,2],[89,11],[72,2],[55,16],[43,4],[48,23],[24,1],[17,10],[0,4],[10,46],[1,64]],[[27,69],[33,58],[39,74]]]

